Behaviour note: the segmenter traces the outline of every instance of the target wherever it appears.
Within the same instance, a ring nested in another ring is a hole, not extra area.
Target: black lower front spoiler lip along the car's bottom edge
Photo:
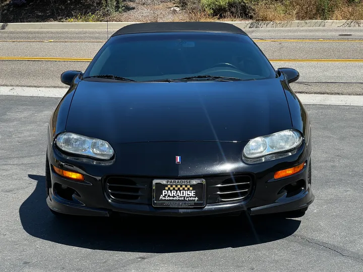
[[[47,197],[48,207],[58,213],[79,215],[79,216],[100,216],[108,217],[112,213],[125,213],[135,215],[148,215],[148,216],[206,216],[206,215],[220,215],[232,214],[236,212],[247,211],[250,215],[262,215],[272,213],[283,213],[295,210],[300,210],[308,207],[314,201],[314,194],[309,184],[308,189],[301,191],[293,197],[278,199],[275,203],[270,205],[247,208],[245,205],[238,203],[223,203],[207,205],[203,209],[157,209],[148,205],[123,205],[124,208],[117,208],[117,210],[95,209],[82,205],[74,205],[73,203],[64,201],[63,198],[57,197],[56,194],[50,192]],[[125,208],[126,207],[126,208]]]

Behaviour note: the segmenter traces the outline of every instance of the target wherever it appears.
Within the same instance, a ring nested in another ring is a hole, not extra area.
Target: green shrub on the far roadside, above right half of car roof
[[[252,19],[253,9],[244,0],[201,0],[201,6],[211,16]]]

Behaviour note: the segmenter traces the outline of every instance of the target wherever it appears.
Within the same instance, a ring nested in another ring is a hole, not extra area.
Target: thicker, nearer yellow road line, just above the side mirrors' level
[[[45,61],[86,61],[92,58],[78,57],[0,57],[0,60],[45,60]],[[271,62],[363,62],[363,59],[270,59]]]

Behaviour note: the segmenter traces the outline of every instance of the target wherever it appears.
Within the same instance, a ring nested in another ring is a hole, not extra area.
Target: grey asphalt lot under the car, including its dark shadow
[[[362,107],[307,105],[316,199],[302,218],[62,220],[44,189],[58,101],[0,97],[0,271],[362,271]]]

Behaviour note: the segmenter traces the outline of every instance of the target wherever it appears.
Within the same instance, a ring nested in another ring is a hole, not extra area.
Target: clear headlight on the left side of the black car
[[[63,151],[97,159],[107,160],[113,156],[113,149],[107,142],[71,132],[59,134],[56,145]]]

